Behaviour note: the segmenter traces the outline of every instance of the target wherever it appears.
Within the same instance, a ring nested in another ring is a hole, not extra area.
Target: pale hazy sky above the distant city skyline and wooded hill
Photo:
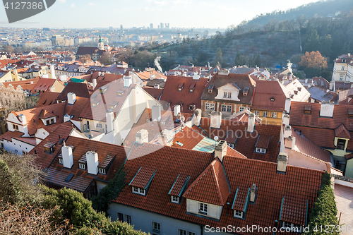
[[[226,28],[261,13],[287,10],[318,0],[56,0],[42,13],[8,23],[0,7],[0,27],[20,28],[154,28],[170,23],[177,28]]]

